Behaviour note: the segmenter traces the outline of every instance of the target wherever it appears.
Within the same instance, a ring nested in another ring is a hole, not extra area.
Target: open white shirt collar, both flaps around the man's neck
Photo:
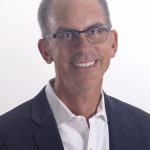
[[[51,82],[51,81],[50,81]],[[55,94],[50,82],[48,82],[45,92],[49,102],[49,105],[54,114],[57,125],[66,122],[67,120],[75,117],[68,107],[57,97]],[[105,102],[104,102],[104,93],[102,92],[102,97],[97,108],[97,112],[93,117],[102,117],[105,121],[107,121],[107,115],[105,110]]]

